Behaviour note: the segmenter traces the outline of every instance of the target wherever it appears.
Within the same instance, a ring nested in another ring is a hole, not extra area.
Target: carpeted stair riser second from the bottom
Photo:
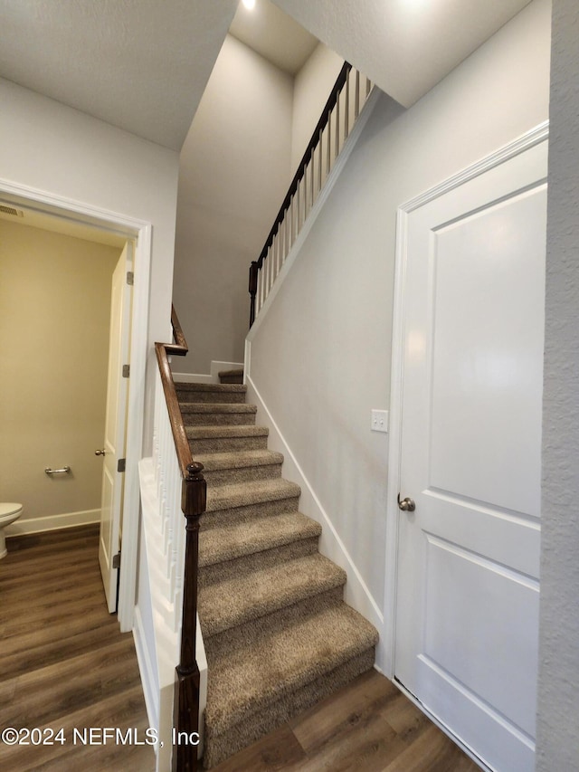
[[[329,605],[343,603],[345,584],[345,581],[340,580],[336,586],[329,587],[315,595],[296,598],[290,605],[263,609],[263,613],[259,615],[257,612],[255,613],[255,618],[242,619],[236,626],[223,627],[223,630],[210,631],[203,629],[202,625],[205,649],[213,656],[223,656],[227,649],[231,651],[238,645],[247,645],[247,641],[252,640],[252,638],[267,635],[284,625],[293,624],[296,619],[317,614],[318,611]],[[202,605],[200,605],[201,607]],[[225,635],[226,640],[224,640]]]

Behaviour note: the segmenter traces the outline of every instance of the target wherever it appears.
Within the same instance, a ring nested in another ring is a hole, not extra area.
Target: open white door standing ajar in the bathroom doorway
[[[124,459],[127,430],[128,367],[130,342],[132,244],[126,243],[112,275],[109,332],[109,374],[103,448],[99,562],[107,605],[117,610],[122,526]]]

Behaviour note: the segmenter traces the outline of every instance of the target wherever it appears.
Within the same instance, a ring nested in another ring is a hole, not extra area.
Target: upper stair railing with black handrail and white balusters
[[[373,84],[344,62],[257,260],[250,266],[250,327],[334,167]]]

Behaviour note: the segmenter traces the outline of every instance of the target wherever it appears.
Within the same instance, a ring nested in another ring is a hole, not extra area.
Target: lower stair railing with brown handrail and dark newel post
[[[200,674],[196,662],[196,620],[197,620],[197,571],[199,557],[199,519],[206,506],[206,482],[203,464],[194,462],[189,442],[185,433],[183,416],[176,396],[175,382],[169,365],[169,356],[184,357],[188,351],[183,330],[177,319],[175,309],[171,311],[171,323],[175,343],[156,343],[155,352],[159,367],[161,386],[165,395],[168,414],[167,434],[172,435],[175,453],[164,453],[166,458],[174,459],[181,478],[181,510],[185,515],[185,567],[175,567],[177,577],[174,584],[180,585],[183,592],[183,614],[181,623],[181,652],[176,667],[176,691],[174,701],[174,727],[177,738],[186,737],[187,742],[177,742],[173,754],[174,772],[195,772],[197,768],[197,745],[192,738],[199,733],[199,688]],[[162,422],[159,422],[162,425]],[[170,428],[169,428],[170,427]],[[170,437],[160,437],[159,442],[170,442]],[[169,462],[170,463],[170,462]],[[170,479],[176,477],[165,472],[164,486],[170,486]],[[178,477],[176,477],[178,480]],[[164,491],[167,502],[167,522],[164,528],[178,529],[171,519],[177,500],[178,491]],[[173,534],[172,543],[178,543],[180,533]],[[176,554],[178,550],[176,550]],[[183,734],[185,733],[185,734]]]

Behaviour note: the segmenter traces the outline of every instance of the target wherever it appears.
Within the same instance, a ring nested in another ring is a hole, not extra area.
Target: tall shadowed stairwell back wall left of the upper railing
[[[232,35],[181,151],[174,303],[189,344],[180,372],[241,362],[248,274],[291,178],[293,81]]]

